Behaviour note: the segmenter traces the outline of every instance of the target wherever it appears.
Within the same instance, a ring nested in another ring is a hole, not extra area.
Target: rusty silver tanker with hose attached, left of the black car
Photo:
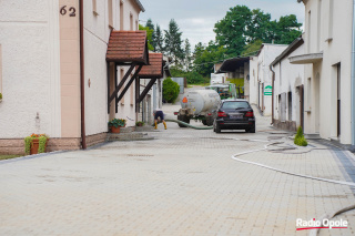
[[[214,90],[195,90],[184,94],[178,120],[190,123],[190,120],[200,120],[204,125],[213,125],[212,111],[221,103],[219,93]],[[185,127],[179,123],[180,127]]]

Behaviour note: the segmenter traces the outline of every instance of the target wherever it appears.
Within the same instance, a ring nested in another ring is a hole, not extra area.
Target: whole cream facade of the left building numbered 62
[[[0,152],[23,153],[32,133],[50,151],[80,148],[104,140],[109,119],[134,125],[133,86],[108,113],[105,57],[111,31],[138,30],[141,11],[139,0],[1,1]],[[120,81],[128,68],[116,70]]]

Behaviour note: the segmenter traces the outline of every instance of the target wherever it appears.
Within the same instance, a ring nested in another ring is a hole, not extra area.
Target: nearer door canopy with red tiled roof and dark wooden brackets
[[[138,78],[143,65],[149,64],[149,51],[146,31],[112,31],[109,40],[108,52],[108,113],[110,113],[110,103],[115,99],[115,113],[118,113],[118,104],[130,89],[133,81]],[[114,63],[115,68],[115,88],[110,93],[110,63]],[[120,83],[116,81],[116,66],[130,66],[128,72],[121,78]],[[135,72],[130,81],[123,88],[125,81],[131,75],[133,70]]]

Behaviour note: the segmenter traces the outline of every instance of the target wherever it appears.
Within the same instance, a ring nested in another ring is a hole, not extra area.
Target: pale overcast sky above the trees
[[[175,19],[183,32],[182,39],[189,39],[192,50],[197,42],[214,40],[214,24],[222,20],[230,8],[237,4],[250,9],[260,8],[271,13],[272,19],[296,14],[298,22],[304,22],[304,4],[297,0],[140,0],[145,12],[140,14],[141,24],[148,19],[166,30],[169,21]]]

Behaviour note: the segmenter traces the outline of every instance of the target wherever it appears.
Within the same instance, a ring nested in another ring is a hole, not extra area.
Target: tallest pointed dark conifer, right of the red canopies
[[[169,29],[165,30],[165,48],[164,51],[168,55],[173,58],[173,63],[180,65],[180,60],[183,59],[183,49],[182,49],[182,32],[178,27],[178,23],[174,19],[171,19],[169,23]]]

